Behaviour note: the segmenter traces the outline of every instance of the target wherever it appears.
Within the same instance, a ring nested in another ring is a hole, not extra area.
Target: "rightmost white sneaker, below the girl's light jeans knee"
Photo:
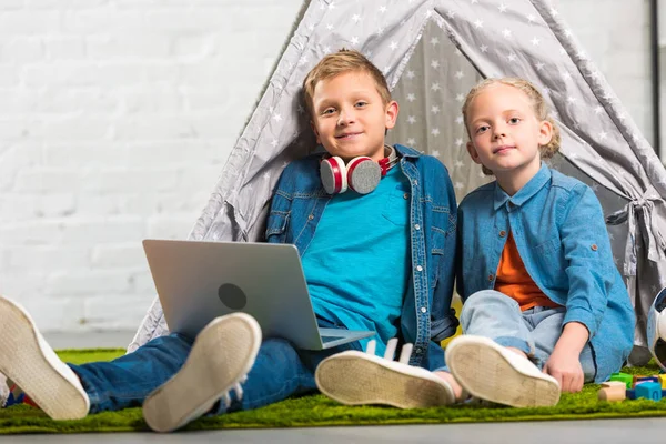
[[[552,406],[559,401],[559,384],[529,360],[496,342],[462,335],[446,346],[446,364],[473,396],[514,407]]]

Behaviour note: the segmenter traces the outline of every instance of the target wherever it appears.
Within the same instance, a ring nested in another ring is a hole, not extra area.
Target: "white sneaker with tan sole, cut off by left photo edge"
[[[53,352],[16,302],[0,296],[0,372],[53,420],[79,420],[90,400],[79,376]]]

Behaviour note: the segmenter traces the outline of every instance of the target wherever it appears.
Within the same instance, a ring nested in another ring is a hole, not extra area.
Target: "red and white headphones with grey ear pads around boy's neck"
[[[397,153],[393,147],[384,145],[389,155],[379,162],[366,155],[354,158],[344,164],[337,155],[322,159],[320,164],[320,176],[324,190],[329,194],[344,193],[352,189],[359,194],[367,194],[380,184],[380,180],[386,172],[397,164]]]

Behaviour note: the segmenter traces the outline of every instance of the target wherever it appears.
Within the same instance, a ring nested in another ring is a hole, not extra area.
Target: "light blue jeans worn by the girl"
[[[464,334],[490,337],[500,345],[523,351],[543,369],[559,340],[565,313],[563,306],[535,306],[522,312],[512,297],[495,290],[482,290],[463,304],[461,325]],[[579,360],[585,382],[594,381],[596,364],[589,341]],[[440,370],[448,372],[447,367]]]

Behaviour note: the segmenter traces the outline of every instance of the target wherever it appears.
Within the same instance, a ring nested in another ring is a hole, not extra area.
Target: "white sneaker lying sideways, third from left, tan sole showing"
[[[395,350],[392,341],[387,351],[393,350],[385,357],[375,356],[374,346],[369,346],[366,353],[346,351],[326,357],[314,373],[316,386],[326,396],[346,405],[425,408],[453,404],[455,395],[446,381],[407,364],[411,344],[405,344],[410,350],[406,353],[403,346],[400,362],[392,361]]]

